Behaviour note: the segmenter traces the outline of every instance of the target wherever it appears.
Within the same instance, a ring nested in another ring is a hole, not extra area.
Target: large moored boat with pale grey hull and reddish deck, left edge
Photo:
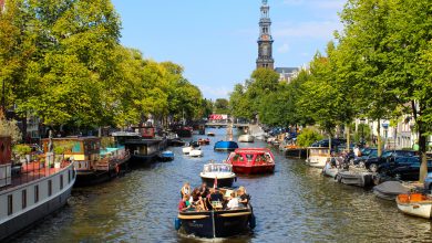
[[[60,210],[76,175],[72,161],[51,168],[50,157],[13,165],[10,142],[10,137],[0,137],[0,242]]]

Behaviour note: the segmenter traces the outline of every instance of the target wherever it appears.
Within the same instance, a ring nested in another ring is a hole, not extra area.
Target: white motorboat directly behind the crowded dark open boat
[[[199,173],[203,182],[215,184],[218,188],[230,188],[236,180],[233,172],[233,166],[227,163],[207,163],[204,165],[203,172]]]

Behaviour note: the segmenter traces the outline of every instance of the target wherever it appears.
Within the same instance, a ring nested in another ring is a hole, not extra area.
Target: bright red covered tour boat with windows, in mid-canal
[[[275,157],[268,148],[238,148],[228,156],[235,173],[267,173],[275,171]]]

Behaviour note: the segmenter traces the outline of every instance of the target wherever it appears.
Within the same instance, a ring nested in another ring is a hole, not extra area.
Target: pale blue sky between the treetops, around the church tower
[[[256,67],[261,0],[112,0],[121,42],[172,61],[204,97],[227,98]],[[346,0],[269,0],[275,67],[307,65],[341,30]]]

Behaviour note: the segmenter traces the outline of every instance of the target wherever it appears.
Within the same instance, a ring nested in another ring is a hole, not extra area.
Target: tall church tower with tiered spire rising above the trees
[[[270,7],[267,0],[263,0],[261,19],[259,20],[258,38],[258,59],[257,68],[265,67],[274,70],[275,60],[272,59],[272,38],[270,32]]]

